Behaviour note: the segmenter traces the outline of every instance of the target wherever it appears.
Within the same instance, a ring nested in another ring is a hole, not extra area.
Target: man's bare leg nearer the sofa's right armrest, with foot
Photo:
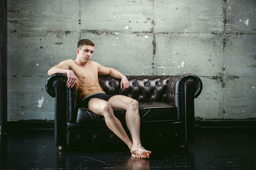
[[[125,109],[125,121],[132,136],[132,157],[148,158],[151,151],[145,150],[141,146],[140,140],[140,114],[138,108],[138,101],[122,95],[116,95],[109,98],[108,102],[112,107]]]

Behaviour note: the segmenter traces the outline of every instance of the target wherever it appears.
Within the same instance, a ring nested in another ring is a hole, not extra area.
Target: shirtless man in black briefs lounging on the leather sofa
[[[106,125],[129,147],[132,157],[149,158],[151,151],[145,150],[140,141],[140,114],[138,101],[124,95],[106,95],[100,88],[98,75],[111,75],[121,79],[121,89],[129,88],[127,77],[113,68],[102,66],[95,61],[90,61],[94,44],[90,40],[79,40],[77,43],[77,58],[67,59],[53,66],[48,75],[52,73],[67,74],[67,87],[72,88],[77,84],[79,98],[85,107],[95,114],[104,116]],[[126,110],[125,121],[132,140],[126,134],[120,121],[113,114],[113,107]]]

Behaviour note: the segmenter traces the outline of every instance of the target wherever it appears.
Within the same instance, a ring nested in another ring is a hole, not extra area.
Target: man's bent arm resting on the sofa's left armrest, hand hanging
[[[56,66],[53,66],[50,70],[48,70],[47,74],[52,75],[53,73],[65,73],[68,77],[67,80],[67,87],[73,88],[76,84],[76,75],[72,70],[70,70],[70,66],[72,65],[72,62],[74,62],[72,59],[68,59],[65,61],[62,61]]]

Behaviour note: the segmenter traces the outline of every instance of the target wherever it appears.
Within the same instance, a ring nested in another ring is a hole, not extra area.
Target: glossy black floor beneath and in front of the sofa
[[[188,148],[136,159],[126,148],[59,152],[52,130],[21,131],[1,135],[0,169],[256,169],[255,143],[255,128],[197,128]]]

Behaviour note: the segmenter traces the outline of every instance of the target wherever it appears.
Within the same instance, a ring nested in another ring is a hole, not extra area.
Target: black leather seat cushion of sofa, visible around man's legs
[[[141,121],[177,120],[177,107],[163,102],[139,103]],[[125,122],[125,110],[113,109],[114,114],[122,123]],[[95,114],[86,108],[79,108],[77,123],[104,123],[104,116]]]

